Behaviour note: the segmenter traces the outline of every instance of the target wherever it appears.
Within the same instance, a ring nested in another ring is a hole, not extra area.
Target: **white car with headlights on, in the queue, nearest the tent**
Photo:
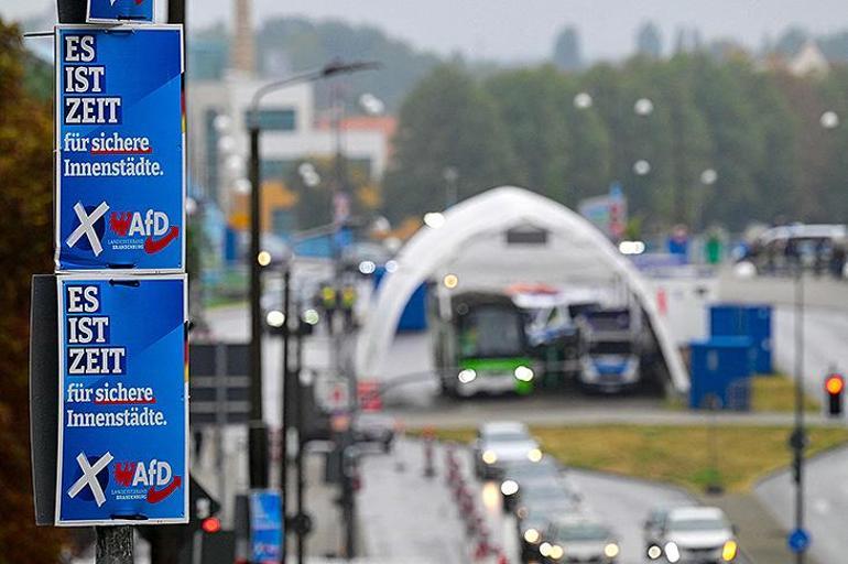
[[[526,425],[504,421],[480,425],[472,456],[477,477],[492,479],[500,477],[504,463],[542,460],[542,451]]]

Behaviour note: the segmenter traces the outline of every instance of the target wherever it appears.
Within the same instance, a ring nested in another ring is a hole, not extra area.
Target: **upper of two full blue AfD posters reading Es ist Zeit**
[[[178,272],[180,25],[56,28],[56,270]]]

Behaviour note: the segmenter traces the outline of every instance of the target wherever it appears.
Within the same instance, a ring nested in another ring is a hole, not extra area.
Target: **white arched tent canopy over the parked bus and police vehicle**
[[[648,316],[665,358],[670,383],[678,393],[688,391],[688,373],[642,275],[584,217],[539,194],[502,186],[457,204],[444,213],[444,219],[441,227],[423,227],[406,242],[395,258],[398,269],[387,274],[380,285],[376,307],[371,308],[357,344],[356,368],[361,378],[379,377],[398,321],[422,282],[448,269],[454,272],[457,261],[465,261],[469,272],[479,270],[481,264],[475,261],[482,253],[475,252],[477,243],[497,245],[496,241],[504,239],[500,236],[511,229],[535,228],[555,239],[557,252],[524,247],[510,256],[513,260],[509,260],[509,270],[524,274],[535,268],[544,281],[579,282],[584,286],[622,282]]]

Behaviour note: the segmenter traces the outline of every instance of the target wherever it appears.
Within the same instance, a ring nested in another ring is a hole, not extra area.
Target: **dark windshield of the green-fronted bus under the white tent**
[[[521,313],[503,307],[479,307],[459,318],[463,358],[503,358],[524,354]]]

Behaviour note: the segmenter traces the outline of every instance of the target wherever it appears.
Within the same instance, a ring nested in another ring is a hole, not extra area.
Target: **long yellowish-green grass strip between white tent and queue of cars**
[[[532,431],[548,454],[569,466],[665,481],[697,492],[717,475],[728,491],[747,491],[765,474],[790,464],[786,426],[717,425],[715,435],[707,425],[540,426]],[[437,436],[466,443],[474,431],[437,431]],[[846,429],[812,427],[807,455],[846,443]]]

